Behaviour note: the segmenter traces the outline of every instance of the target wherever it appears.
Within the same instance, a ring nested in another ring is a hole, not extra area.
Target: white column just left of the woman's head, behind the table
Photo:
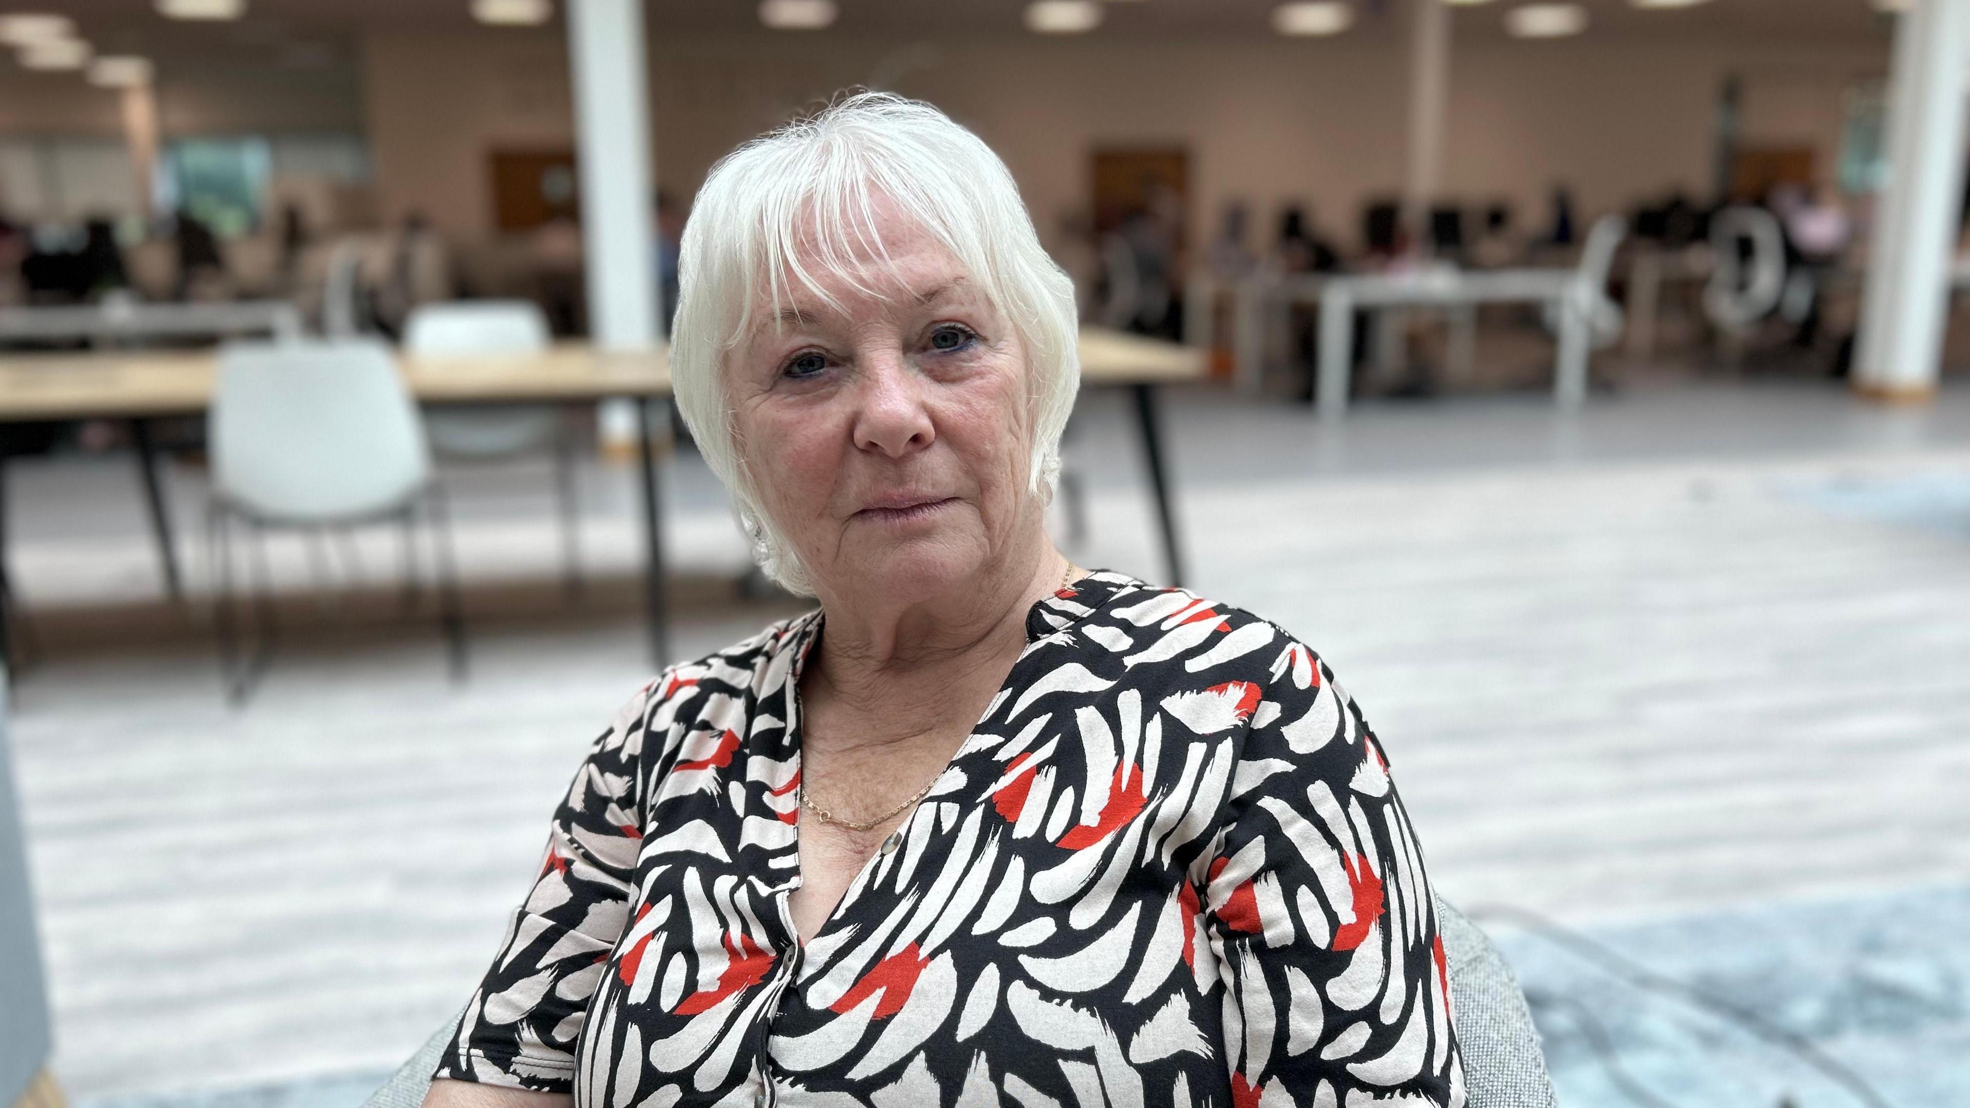
[[[660,325],[642,0],[567,0],[567,51],[589,335],[605,349],[648,349]],[[599,430],[605,444],[632,442],[634,408],[605,406]]]

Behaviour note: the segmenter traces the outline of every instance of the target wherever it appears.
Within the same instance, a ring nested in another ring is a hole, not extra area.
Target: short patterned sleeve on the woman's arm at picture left
[[[583,1013],[628,919],[656,684],[589,743],[548,824],[540,873],[431,1076],[573,1092]]]

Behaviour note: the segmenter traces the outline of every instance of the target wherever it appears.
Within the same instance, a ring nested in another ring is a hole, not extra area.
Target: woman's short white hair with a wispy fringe
[[[1040,246],[1005,162],[938,108],[857,93],[721,158],[684,225],[672,388],[697,450],[737,501],[755,560],[806,595],[812,580],[762,511],[739,453],[725,361],[753,327],[776,325],[792,288],[831,308],[839,302],[821,274],[869,288],[855,258],[888,256],[877,201],[942,242],[1018,333],[1032,426],[1028,489],[1042,503],[1052,499],[1060,432],[1080,390],[1074,282]],[[772,312],[756,313],[766,296]]]

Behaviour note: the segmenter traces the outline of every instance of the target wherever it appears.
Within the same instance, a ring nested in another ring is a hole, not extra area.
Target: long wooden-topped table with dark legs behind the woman
[[[534,355],[400,357],[404,382],[420,404],[587,404],[628,398],[640,422],[638,485],[644,522],[644,588],[650,653],[670,658],[664,607],[664,544],[658,505],[656,453],[652,450],[652,400],[670,396],[670,359],[654,351],[599,351],[561,343]],[[1170,582],[1182,580],[1162,430],[1156,414],[1160,384],[1202,381],[1202,351],[1103,327],[1082,329],[1082,382],[1121,386],[1135,396],[1137,424],[1149,467]],[[219,377],[215,351],[110,351],[0,355],[0,422],[126,420],[144,479],[144,503],[158,544],[158,564],[173,599],[183,595],[177,550],[171,544],[169,505],[158,479],[150,422],[195,416],[211,406]],[[4,489],[4,481],[0,481]],[[6,589],[6,507],[0,497],[0,625]]]

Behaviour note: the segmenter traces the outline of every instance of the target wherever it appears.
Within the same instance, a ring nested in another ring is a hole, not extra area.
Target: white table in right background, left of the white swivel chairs
[[[1550,304],[1558,312],[1552,396],[1572,408],[1588,390],[1588,327],[1594,288],[1574,270],[1416,270],[1330,276],[1320,288],[1320,416],[1347,410],[1347,371],[1357,308],[1476,308],[1479,304]]]

